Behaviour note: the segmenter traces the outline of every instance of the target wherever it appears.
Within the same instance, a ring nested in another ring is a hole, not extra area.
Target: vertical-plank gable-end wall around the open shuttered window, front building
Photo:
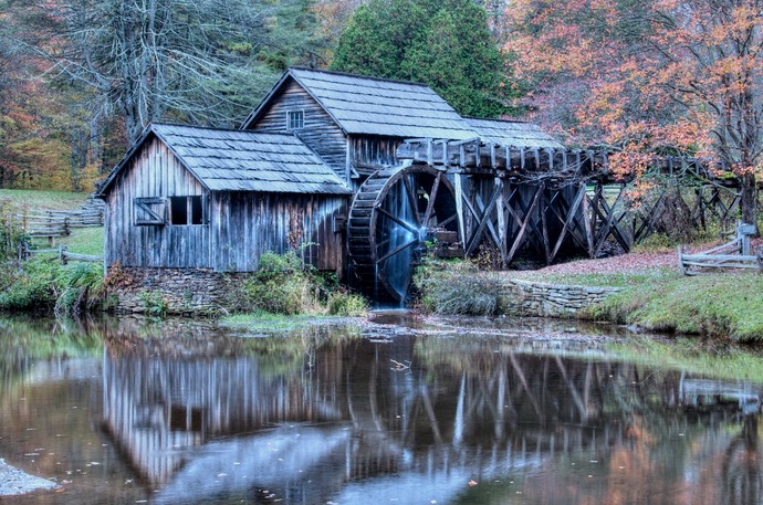
[[[208,267],[209,225],[136,225],[136,198],[207,196],[159,140],[148,141],[122,170],[106,198],[105,261],[125,266]]]

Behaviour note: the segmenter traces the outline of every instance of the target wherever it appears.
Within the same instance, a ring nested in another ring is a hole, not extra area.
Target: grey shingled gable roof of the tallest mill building
[[[477,137],[453,107],[424,84],[305,69],[288,70],[242,128],[254,123],[292,78],[345,134],[453,140]]]

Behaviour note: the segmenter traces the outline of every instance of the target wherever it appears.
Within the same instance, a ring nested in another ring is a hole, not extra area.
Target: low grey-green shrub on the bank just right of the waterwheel
[[[422,308],[446,315],[493,315],[499,309],[498,273],[468,261],[429,262],[418,267],[414,285]]]

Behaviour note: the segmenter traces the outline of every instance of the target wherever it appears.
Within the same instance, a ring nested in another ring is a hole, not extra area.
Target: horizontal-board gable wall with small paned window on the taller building
[[[294,133],[343,180],[348,181],[347,141],[344,131],[295,81],[290,80],[283,93],[272,101],[250,129],[258,133],[289,133],[286,113],[290,111],[304,112],[304,128]]]

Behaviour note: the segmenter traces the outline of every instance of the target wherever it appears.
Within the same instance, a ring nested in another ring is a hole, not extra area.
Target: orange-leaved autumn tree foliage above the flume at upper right
[[[645,175],[655,155],[717,160],[755,222],[763,160],[763,3],[755,0],[516,0],[506,50],[526,105],[572,144],[619,152]]]

